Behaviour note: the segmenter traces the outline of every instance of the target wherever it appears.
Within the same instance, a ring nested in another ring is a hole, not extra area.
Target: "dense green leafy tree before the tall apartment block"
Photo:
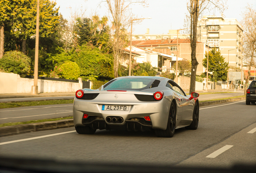
[[[214,47],[209,52],[208,71],[213,72],[214,81],[226,81],[228,63],[225,62],[225,58],[221,55],[221,51]],[[207,52],[204,54],[202,62],[204,68],[207,68]]]

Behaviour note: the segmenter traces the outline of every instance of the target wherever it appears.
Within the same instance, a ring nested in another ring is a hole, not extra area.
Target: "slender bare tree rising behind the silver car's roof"
[[[126,28],[129,26],[133,17],[131,5],[140,4],[147,6],[146,0],[104,0],[107,2],[109,18],[112,22],[112,50],[114,55],[114,77],[118,77],[119,60],[124,48],[128,42]]]

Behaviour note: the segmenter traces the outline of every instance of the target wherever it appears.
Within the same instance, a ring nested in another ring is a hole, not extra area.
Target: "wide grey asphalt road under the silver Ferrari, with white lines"
[[[0,155],[136,165],[256,164],[255,110],[256,104],[245,101],[200,107],[198,129],[177,129],[173,138],[158,138],[151,131],[79,135],[74,127],[6,136],[0,138]]]

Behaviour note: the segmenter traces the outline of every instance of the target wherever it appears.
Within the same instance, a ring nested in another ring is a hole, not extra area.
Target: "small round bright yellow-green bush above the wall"
[[[75,62],[65,62],[60,66],[59,70],[61,74],[60,78],[77,80],[80,76],[79,66]]]

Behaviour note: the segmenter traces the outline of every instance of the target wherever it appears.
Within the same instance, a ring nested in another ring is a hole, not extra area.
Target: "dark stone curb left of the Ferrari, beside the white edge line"
[[[0,127],[0,136],[17,135],[21,133],[60,129],[67,127],[74,127],[73,119]]]

